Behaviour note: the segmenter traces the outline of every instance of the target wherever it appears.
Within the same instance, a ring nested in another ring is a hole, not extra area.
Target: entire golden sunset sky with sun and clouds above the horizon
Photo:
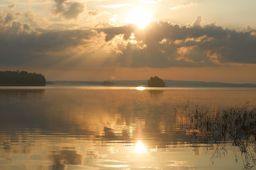
[[[256,0],[1,0],[0,70],[256,83]]]

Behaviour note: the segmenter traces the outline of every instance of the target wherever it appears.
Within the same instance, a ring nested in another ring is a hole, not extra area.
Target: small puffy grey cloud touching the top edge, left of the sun
[[[54,2],[55,6],[52,12],[62,15],[68,20],[76,19],[85,10],[85,5],[81,2],[68,2],[68,0],[54,0]]]

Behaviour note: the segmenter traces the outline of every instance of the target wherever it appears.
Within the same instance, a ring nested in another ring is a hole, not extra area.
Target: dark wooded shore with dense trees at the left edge
[[[27,71],[0,71],[0,85],[44,86],[45,77],[42,74]]]

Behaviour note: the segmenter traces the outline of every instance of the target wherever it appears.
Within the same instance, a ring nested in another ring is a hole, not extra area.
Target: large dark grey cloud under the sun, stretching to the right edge
[[[126,46],[119,46],[121,53],[117,54],[116,62],[121,66],[256,64],[256,30],[247,27],[246,31],[236,31],[216,22],[202,25],[202,21],[202,17],[197,16],[192,25],[154,21],[144,30],[125,25],[98,31],[106,34],[106,41],[123,35],[123,40],[128,42]]]

